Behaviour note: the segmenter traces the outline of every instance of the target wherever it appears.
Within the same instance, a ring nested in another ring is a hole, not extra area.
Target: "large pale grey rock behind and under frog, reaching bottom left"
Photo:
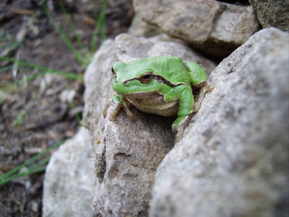
[[[111,66],[117,60],[130,62],[151,55],[177,55],[185,61],[202,64],[208,73],[216,67],[214,62],[183,44],[162,41],[162,38],[122,34],[115,41],[106,40],[96,52],[85,72],[83,127],[52,155],[47,167],[44,217],[91,216],[95,189],[93,207],[98,214],[147,214],[155,170],[172,147],[170,124],[173,120],[167,122],[161,117],[134,111],[139,121],[131,123],[120,113],[118,121],[108,121],[103,132],[102,109],[113,95]],[[103,136],[105,140],[98,144]],[[92,169],[94,153],[96,163]],[[104,171],[99,168],[101,163]],[[104,179],[102,172],[105,172]],[[96,176],[101,182],[97,188]]]

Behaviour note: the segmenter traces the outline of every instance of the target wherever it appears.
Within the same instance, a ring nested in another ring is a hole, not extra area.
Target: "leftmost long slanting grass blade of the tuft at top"
[[[48,8],[44,1],[41,2],[42,8],[45,11],[46,16],[48,17],[48,20],[50,24],[53,26],[55,31],[58,33],[58,35],[61,37],[61,39],[65,42],[65,44],[72,50],[72,53],[74,54],[77,61],[81,64],[82,68],[85,69],[87,66],[87,63],[84,61],[80,53],[74,48],[71,40],[69,37],[59,28],[59,26],[55,23],[53,17],[51,16],[50,12],[48,11]]]

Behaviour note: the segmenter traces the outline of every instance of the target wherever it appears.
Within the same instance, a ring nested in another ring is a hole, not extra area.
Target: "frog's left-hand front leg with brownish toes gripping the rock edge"
[[[112,98],[107,100],[102,111],[103,118],[107,117],[109,121],[115,121],[120,108],[124,109],[131,121],[134,122],[137,120],[137,117],[129,109],[129,102],[120,94],[115,94]]]

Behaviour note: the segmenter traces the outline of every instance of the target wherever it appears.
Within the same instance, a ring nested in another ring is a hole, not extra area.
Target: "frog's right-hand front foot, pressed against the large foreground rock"
[[[172,123],[171,129],[174,134],[174,143],[177,143],[182,139],[184,130],[188,126],[193,115],[194,113],[187,116],[180,116]]]

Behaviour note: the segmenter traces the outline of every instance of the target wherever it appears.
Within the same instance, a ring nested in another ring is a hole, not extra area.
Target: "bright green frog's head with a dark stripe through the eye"
[[[116,62],[112,67],[114,91],[121,95],[159,92],[160,76],[155,73],[147,60],[137,60],[129,64]]]

